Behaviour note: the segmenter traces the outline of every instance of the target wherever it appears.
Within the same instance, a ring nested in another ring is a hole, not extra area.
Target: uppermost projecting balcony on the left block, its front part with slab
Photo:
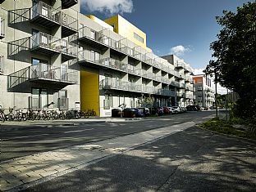
[[[51,29],[54,26],[61,25],[61,11],[45,2],[38,2],[31,7],[30,22]]]

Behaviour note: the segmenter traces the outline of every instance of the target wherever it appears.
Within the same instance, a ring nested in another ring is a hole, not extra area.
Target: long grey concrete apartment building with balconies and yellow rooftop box
[[[142,94],[156,106],[193,103],[193,69],[176,56],[154,55],[146,34],[121,16],[85,16],[77,0],[0,3],[2,108],[110,116],[119,105],[138,107]]]

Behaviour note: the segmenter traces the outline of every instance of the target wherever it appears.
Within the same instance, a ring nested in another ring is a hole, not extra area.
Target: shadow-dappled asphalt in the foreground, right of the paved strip
[[[25,191],[255,191],[256,144],[198,127]]]

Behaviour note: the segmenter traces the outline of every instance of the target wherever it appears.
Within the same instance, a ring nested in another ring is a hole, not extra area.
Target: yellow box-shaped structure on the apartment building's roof
[[[146,48],[147,47],[147,36],[139,28],[132,25],[128,20],[125,18],[117,15],[112,16],[105,20],[105,22],[109,25],[115,25],[114,31],[124,38],[128,38],[130,41],[135,42],[135,44]],[[136,38],[134,38],[134,33],[137,33],[141,38],[144,38],[144,42],[139,42]]]

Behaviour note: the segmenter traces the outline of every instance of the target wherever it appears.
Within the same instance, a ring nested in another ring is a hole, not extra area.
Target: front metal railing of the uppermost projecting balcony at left
[[[31,20],[35,19],[37,16],[41,16],[48,20],[52,20],[57,24],[61,24],[61,10],[55,9],[45,2],[39,1],[31,7]]]

